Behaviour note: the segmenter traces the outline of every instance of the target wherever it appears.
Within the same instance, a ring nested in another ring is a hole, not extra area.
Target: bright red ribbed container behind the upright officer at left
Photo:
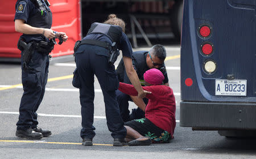
[[[0,5],[0,58],[20,58],[17,42],[21,33],[15,32],[14,15],[16,0],[3,1]],[[73,54],[73,47],[81,39],[80,0],[50,0],[52,29],[65,32],[68,41],[55,45],[52,57]]]

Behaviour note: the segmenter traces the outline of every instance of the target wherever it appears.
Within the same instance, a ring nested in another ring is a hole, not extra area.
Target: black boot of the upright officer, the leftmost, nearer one
[[[31,128],[28,128],[27,130],[16,130],[15,135],[20,139],[28,139],[28,140],[39,140],[39,139],[42,139],[43,137],[42,133],[32,131]]]

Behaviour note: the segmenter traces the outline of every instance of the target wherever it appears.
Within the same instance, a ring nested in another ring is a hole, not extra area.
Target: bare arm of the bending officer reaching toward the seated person
[[[137,75],[136,71],[133,68],[133,63],[131,61],[131,58],[124,56],[123,57],[123,62],[125,63],[126,74],[129,77],[129,79],[130,79],[131,83],[133,84],[134,88],[138,92],[138,97],[139,98],[146,97],[146,94],[151,93],[151,92],[143,91],[143,89],[141,87],[141,83],[139,82],[138,75]],[[137,96],[137,95],[133,95],[133,96]]]

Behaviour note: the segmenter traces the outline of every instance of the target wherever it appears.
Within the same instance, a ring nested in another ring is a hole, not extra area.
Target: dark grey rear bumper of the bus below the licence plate
[[[180,126],[193,130],[256,130],[256,104],[183,101]]]

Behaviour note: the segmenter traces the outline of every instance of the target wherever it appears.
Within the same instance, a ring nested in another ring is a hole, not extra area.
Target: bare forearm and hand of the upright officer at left
[[[15,31],[27,35],[42,34],[47,38],[53,38],[55,36],[52,29],[31,27],[30,25],[24,23],[24,20],[22,19],[15,19]]]

